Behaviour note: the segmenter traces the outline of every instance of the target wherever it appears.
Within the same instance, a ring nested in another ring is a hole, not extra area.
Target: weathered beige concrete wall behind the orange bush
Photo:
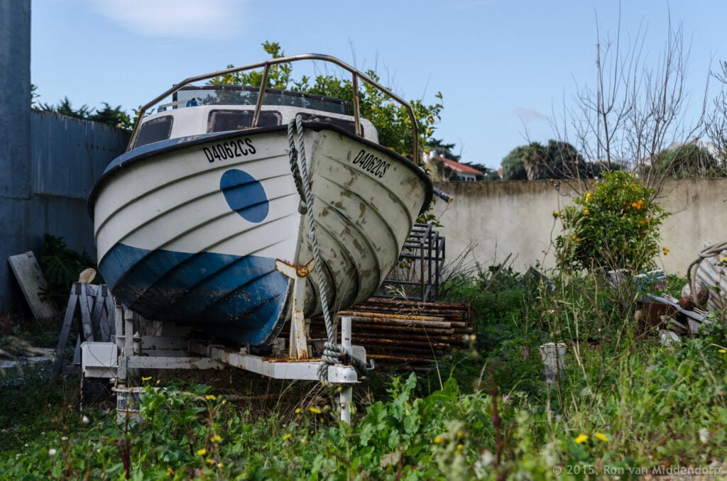
[[[513,268],[524,271],[539,262],[553,267],[550,243],[561,232],[553,211],[571,203],[574,193],[552,181],[446,182],[438,185],[454,196],[449,206],[438,202],[446,237],[447,257],[476,246],[470,261],[489,265],[513,253]],[[702,250],[704,241],[727,241],[727,179],[684,179],[666,182],[659,204],[670,217],[662,225],[659,267],[686,274],[686,267]]]

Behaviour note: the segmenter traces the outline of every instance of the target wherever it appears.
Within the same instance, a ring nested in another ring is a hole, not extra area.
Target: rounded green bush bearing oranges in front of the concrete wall
[[[659,253],[659,225],[666,217],[654,201],[655,191],[632,174],[606,172],[587,192],[553,215],[563,234],[555,240],[561,269],[628,269],[654,267]],[[664,254],[668,249],[664,248]]]

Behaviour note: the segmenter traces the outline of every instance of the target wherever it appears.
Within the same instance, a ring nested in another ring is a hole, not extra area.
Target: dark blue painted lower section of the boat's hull
[[[115,296],[150,320],[212,336],[268,344],[286,315],[289,280],[276,259],[155,250],[117,244],[99,264]]]

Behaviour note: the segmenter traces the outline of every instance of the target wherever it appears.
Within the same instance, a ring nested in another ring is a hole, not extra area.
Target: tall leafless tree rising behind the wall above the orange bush
[[[686,67],[690,44],[683,26],[668,24],[664,50],[648,62],[644,54],[646,30],[624,41],[619,23],[615,39],[601,36],[596,19],[595,89],[577,86],[572,105],[564,105],[560,121],[553,121],[559,138],[573,143],[585,155],[613,169],[635,169],[647,185],[658,187],[663,171],[654,159],[671,145],[681,145],[704,133],[707,87],[702,113],[688,121],[689,92]]]

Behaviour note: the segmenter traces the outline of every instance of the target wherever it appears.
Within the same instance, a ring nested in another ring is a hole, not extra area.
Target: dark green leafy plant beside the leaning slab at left
[[[39,264],[48,281],[48,288],[41,295],[60,306],[68,301],[71,284],[78,280],[79,274],[88,267],[96,268],[96,262],[86,251],[73,251],[63,238],[50,234],[43,236]],[[100,274],[96,275],[95,283],[103,283]]]

